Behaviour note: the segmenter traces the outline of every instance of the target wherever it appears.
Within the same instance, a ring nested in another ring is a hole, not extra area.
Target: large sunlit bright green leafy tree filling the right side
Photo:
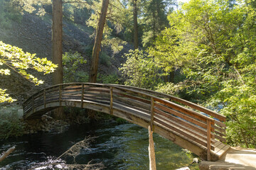
[[[151,47],[165,72],[181,69],[186,80],[159,87],[197,94],[208,106],[222,105],[228,142],[255,147],[256,11],[240,1],[191,0],[169,15]]]

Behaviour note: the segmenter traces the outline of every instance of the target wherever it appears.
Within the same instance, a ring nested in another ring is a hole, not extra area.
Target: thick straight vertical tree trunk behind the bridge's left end
[[[58,68],[53,72],[53,85],[63,83],[63,9],[62,0],[53,0],[53,63],[58,64]],[[54,111],[55,118],[63,119],[63,108]]]

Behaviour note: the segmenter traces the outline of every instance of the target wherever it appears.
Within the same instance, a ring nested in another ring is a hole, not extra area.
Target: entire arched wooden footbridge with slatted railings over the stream
[[[116,84],[50,86],[23,103],[24,118],[40,118],[58,107],[87,108],[148,128],[204,160],[218,160],[225,142],[225,116],[156,91]]]

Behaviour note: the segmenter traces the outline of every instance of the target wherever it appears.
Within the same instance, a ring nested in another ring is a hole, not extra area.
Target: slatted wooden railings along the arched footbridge
[[[171,101],[168,99],[171,99]],[[58,102],[58,106],[65,106],[65,101],[80,101],[80,108],[84,107],[84,103],[93,103],[93,105],[102,107],[107,106],[107,113],[111,115],[117,109],[128,111],[138,118],[146,120],[152,130],[154,130],[155,125],[176,130],[180,135],[207,147],[208,160],[210,160],[210,149],[214,149],[212,144],[215,139],[225,140],[223,138],[225,137],[223,133],[225,132],[225,124],[220,122],[225,121],[225,116],[181,98],[131,86],[91,83],[50,86],[38,91],[23,103],[24,113],[31,111],[31,108],[32,112],[37,111],[36,109],[41,106],[46,109],[51,106],[50,103],[54,102]],[[189,106],[192,109],[184,106]],[[213,118],[201,112],[213,116]],[[33,115],[33,113],[31,114]],[[215,118],[218,120],[215,120]],[[198,138],[193,137],[193,135]]]

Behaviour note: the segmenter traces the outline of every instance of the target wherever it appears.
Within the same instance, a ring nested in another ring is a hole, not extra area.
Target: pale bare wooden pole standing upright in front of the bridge
[[[149,170],[156,170],[156,155],[154,152],[153,131],[149,125]]]

